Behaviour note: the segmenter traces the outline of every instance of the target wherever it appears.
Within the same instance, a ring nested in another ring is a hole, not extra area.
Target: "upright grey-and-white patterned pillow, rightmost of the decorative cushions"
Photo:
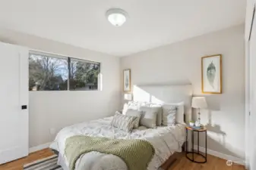
[[[177,107],[174,105],[163,104],[163,125],[175,125],[175,115]]]

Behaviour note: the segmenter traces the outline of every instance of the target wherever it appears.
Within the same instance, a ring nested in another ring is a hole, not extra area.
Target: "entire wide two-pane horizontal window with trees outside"
[[[100,63],[30,52],[30,91],[95,91],[99,75]]]

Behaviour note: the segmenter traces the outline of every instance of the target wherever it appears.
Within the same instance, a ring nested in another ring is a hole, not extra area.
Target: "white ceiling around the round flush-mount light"
[[[127,56],[245,23],[245,0],[0,0],[0,26]],[[121,27],[106,20],[122,8]]]

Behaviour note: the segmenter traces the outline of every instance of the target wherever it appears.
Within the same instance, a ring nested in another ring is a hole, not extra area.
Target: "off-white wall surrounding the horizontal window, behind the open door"
[[[86,37],[84,37],[86,39]],[[109,116],[120,106],[120,59],[48,39],[0,29],[0,41],[101,63],[103,91],[30,91],[30,147],[46,144],[61,128]],[[100,42],[99,42],[100,43]]]

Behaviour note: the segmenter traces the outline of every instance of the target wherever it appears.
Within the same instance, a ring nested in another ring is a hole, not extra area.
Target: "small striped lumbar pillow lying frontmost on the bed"
[[[131,131],[134,127],[134,116],[126,116],[119,113],[115,113],[110,125],[119,128],[123,131]]]

